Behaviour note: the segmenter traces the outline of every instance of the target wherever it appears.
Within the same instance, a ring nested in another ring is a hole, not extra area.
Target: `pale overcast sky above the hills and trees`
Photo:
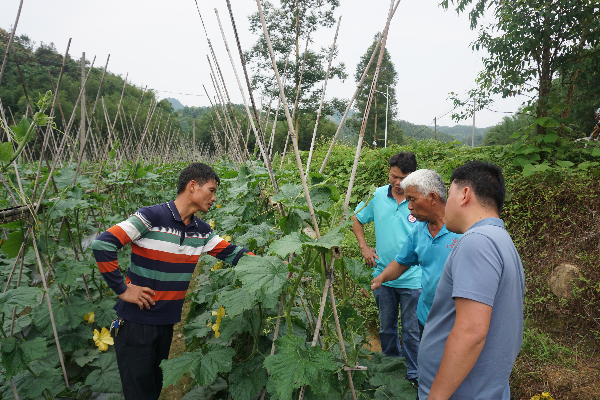
[[[226,2],[197,1],[232,101],[241,103],[214,12],[216,7],[234,51]],[[257,39],[249,32],[247,18],[256,12],[256,1],[231,2],[242,48],[247,50]],[[341,0],[335,12],[336,18],[342,16],[337,60],[346,63],[349,78],[330,81],[327,98],[352,96],[356,64],[373,36],[385,27],[389,6],[389,0]],[[14,25],[18,7],[19,0],[2,0],[0,27],[8,31]],[[103,67],[110,54],[109,71],[123,76],[129,73],[130,82],[148,85],[160,98],[174,97],[189,106],[209,105],[202,89],[204,84],[211,93],[206,61],[209,49],[194,0],[25,0],[17,27],[17,35],[21,34],[37,43],[53,42],[60,53],[72,38],[69,53],[75,59],[85,51],[86,58],[97,57],[95,66]],[[334,35],[335,27],[317,32],[313,48],[330,46]],[[476,37],[477,31],[469,29],[467,14],[444,11],[437,0],[402,0],[387,44],[398,72],[398,118],[433,126],[433,118],[438,117],[438,125],[455,125],[452,113],[447,113],[452,109],[449,93],[464,96],[483,66],[484,53],[474,52],[470,46]],[[234,59],[238,74],[242,74],[237,52]],[[476,126],[497,124],[510,115],[501,112],[516,111],[521,101],[523,98],[499,99],[490,108],[500,112],[478,112]]]

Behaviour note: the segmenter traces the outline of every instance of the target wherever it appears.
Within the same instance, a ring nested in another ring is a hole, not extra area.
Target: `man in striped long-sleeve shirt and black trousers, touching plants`
[[[194,216],[208,212],[219,183],[211,167],[191,164],[179,175],[174,201],[141,208],[92,243],[102,276],[119,296],[114,308],[123,322],[115,334],[115,352],[126,400],[158,399],[160,363],[169,357],[173,325],[181,320],[200,255],[235,265],[252,254],[221,239]],[[128,243],[131,262],[123,281],[117,250]]]

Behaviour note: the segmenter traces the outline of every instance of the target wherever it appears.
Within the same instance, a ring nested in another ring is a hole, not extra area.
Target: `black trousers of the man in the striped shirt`
[[[160,363],[169,358],[173,325],[124,321],[115,352],[125,400],[157,400],[162,389]]]

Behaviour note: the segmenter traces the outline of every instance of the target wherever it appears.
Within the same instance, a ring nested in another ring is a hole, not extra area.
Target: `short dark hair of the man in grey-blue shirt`
[[[469,186],[479,203],[502,211],[506,188],[502,170],[495,164],[483,161],[469,161],[452,171],[450,183]]]

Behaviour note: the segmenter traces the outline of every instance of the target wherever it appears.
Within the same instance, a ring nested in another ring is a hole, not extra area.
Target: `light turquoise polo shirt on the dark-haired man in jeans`
[[[372,275],[376,277],[392,262],[417,220],[410,215],[408,201],[404,200],[398,204],[392,195],[391,185],[377,188],[371,201],[361,210],[364,204],[360,202],[355,212],[360,210],[356,213],[356,218],[361,224],[365,225],[369,222],[375,224],[375,252],[379,260],[375,260],[376,267]],[[402,274],[400,278],[386,282],[384,285],[402,289],[420,289],[421,268],[417,265]]]

